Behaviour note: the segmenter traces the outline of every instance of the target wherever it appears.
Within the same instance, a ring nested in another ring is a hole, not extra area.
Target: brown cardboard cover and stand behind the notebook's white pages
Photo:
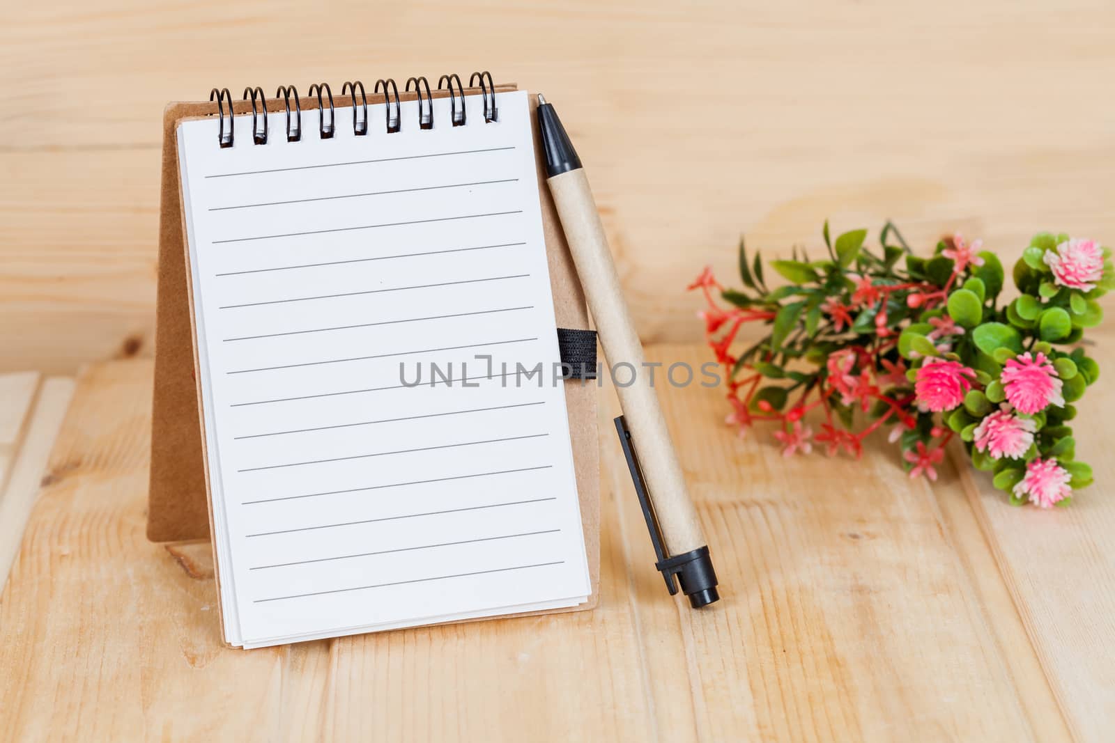
[[[500,92],[515,89],[515,85],[496,86]],[[466,88],[465,92],[478,95],[479,90]],[[448,91],[434,91],[434,97],[446,95]],[[379,101],[378,96],[371,98],[371,102]],[[400,94],[399,98],[404,102],[411,101],[415,100],[415,95]],[[352,99],[348,96],[338,96],[333,99],[338,125],[345,125],[347,119],[345,114],[349,111],[351,105]],[[532,126],[536,129],[537,123],[533,111],[537,104],[532,98],[530,105]],[[310,130],[317,126],[314,110],[317,98],[302,98],[301,107],[303,130]],[[272,117],[271,131],[273,135],[282,133],[285,128],[283,101],[269,99],[266,108]],[[236,101],[233,110],[236,114],[250,113],[251,102]],[[147,538],[152,541],[205,539],[211,531],[209,477],[205,471],[205,458],[202,454],[203,438],[198,404],[201,391],[197,384],[197,356],[194,346],[192,285],[187,278],[190,252],[183,227],[178,174],[177,127],[184,119],[212,116],[215,113],[214,102],[173,102],[163,111],[163,190],[159,201],[155,392],[147,509]],[[375,121],[371,126],[375,126]],[[237,134],[244,136],[245,133]],[[536,130],[534,141],[542,225],[558,325],[588,327],[589,317],[581,283],[576,277],[550,190],[543,183],[545,176],[542,172],[542,154]],[[597,604],[599,594],[600,461],[595,392],[595,384],[591,382],[584,383],[578,380],[565,382],[569,428],[592,596],[588,604],[571,609],[558,609],[559,612],[592,608]]]

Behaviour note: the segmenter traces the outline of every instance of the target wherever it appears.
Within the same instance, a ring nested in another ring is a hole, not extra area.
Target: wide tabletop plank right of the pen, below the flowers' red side
[[[667,345],[649,356],[696,368],[707,353]],[[698,737],[1038,740],[934,496],[904,477],[893,450],[787,466],[769,431],[740,440],[723,426],[723,389],[658,389],[721,603],[669,607],[646,570],[653,556],[630,499],[621,528],[644,568],[633,590],[644,646],[683,638]],[[609,469],[620,487],[624,475]],[[663,655],[650,656],[652,678],[676,667]]]

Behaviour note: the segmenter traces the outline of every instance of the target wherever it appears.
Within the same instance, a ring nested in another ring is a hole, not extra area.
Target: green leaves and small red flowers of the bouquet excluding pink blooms
[[[1017,496],[1012,489],[1038,458],[1063,467],[1073,489],[1092,483],[1092,469],[1076,461],[1069,422],[1078,413],[1088,418],[1089,409],[1079,401],[1099,379],[1099,365],[1079,342],[1087,329],[1103,322],[1098,300],[1115,291],[1109,250],[1103,248],[1104,271],[1095,289],[1084,292],[1061,285],[1046,263],[1047,253],[1068,235],[1039,233],[1011,267],[1015,293],[1005,287],[1006,272],[995,253],[983,251],[979,265],[969,263],[969,248],[956,242],[959,238],[939,242],[928,256],[915,255],[890,223],[878,247],[867,244],[865,229],[834,237],[827,222],[822,238],[823,260],[794,248],[789,257],[769,263],[786,282],[774,289],[764,277],[760,254],[750,255],[740,238],[743,287],[715,293],[728,304],[729,314],[768,326],[764,338],[753,338],[748,348],[729,354],[727,343],[740,322],[718,322],[725,316],[718,306],[719,314],[706,315],[718,359],[731,366],[734,391],[744,390],[752,411],[762,412],[763,419],[780,419],[787,432],[803,408],[817,409],[822,402],[828,426],[847,432],[857,418],[874,421],[866,430],[901,421],[898,440],[908,471],[924,469],[929,453],[937,457],[932,448],[958,437],[972,466],[990,472],[1015,505],[1029,502],[1029,486],[1020,487]],[[715,304],[715,282],[699,281],[697,286]],[[721,333],[729,334],[726,342]],[[834,354],[841,354],[838,366],[830,366]],[[1002,375],[1008,364],[1034,363],[1035,354],[1051,361],[1064,404],[1024,414],[1010,404],[1014,393],[1008,394],[1010,384]],[[928,363],[948,364],[933,370],[939,379],[950,373],[963,378],[960,397],[941,392],[934,404],[946,412],[939,416],[927,412],[928,403],[919,408],[918,395],[948,389],[947,381],[940,387],[935,381],[924,388],[917,384]],[[1019,458],[996,459],[975,447],[980,423],[1000,410],[1032,421],[1032,443]],[[859,437],[847,436],[859,447]]]

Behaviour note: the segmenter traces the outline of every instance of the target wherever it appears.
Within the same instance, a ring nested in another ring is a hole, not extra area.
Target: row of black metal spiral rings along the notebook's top
[[[491,124],[498,120],[498,111],[495,102],[495,82],[492,74],[487,70],[473,72],[468,78],[468,87],[479,87],[484,102],[484,123]],[[429,87],[429,80],[425,77],[411,77],[407,79],[406,91],[413,89],[417,94],[418,105],[418,127],[421,129],[434,128],[434,96]],[[465,126],[467,109],[465,106],[465,87],[460,77],[455,74],[443,75],[437,81],[438,90],[449,92],[449,123],[452,126]],[[359,106],[357,105],[357,91],[360,94]],[[395,134],[403,128],[403,105],[399,99],[399,87],[392,78],[376,80],[372,95],[384,96],[384,125],[387,134]],[[308,96],[318,98],[318,134],[322,139],[332,139],[337,133],[336,111],[333,110],[333,92],[328,82],[314,82],[310,86]],[[368,134],[368,97],[365,92],[363,84],[360,80],[346,82],[341,87],[341,95],[352,97],[352,134],[362,137]],[[275,90],[275,100],[282,96],[285,108],[287,141],[302,140],[302,102],[294,86],[279,86]],[[294,99],[294,111],[291,116],[291,98]],[[263,94],[263,88],[244,88],[243,100],[252,101],[252,141],[256,145],[268,144],[268,100]],[[458,101],[459,99],[459,101]],[[233,126],[235,124],[235,113],[232,107],[232,95],[227,88],[213,88],[210,91],[210,100],[216,101],[216,114],[219,117],[217,143],[222,148],[232,147],[235,140]],[[329,116],[326,116],[326,101],[329,102]],[[227,123],[225,121],[225,104],[227,104]],[[262,108],[262,111],[260,110]],[[263,117],[263,126],[260,127],[260,115]]]

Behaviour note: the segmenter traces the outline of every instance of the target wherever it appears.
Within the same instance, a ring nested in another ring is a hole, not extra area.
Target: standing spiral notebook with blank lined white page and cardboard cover
[[[224,91],[168,125],[185,271],[159,333],[185,291],[230,645],[592,603],[574,446],[594,421],[566,394],[583,382],[553,382],[570,274],[551,275],[532,106],[443,84]],[[153,526],[183,453],[157,359]]]

